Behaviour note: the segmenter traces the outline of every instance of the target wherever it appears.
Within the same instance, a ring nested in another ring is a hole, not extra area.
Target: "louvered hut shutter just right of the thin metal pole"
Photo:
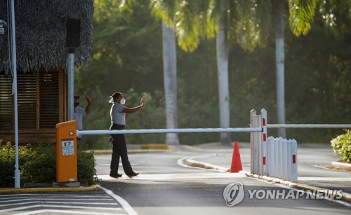
[[[36,129],[37,77],[34,74],[17,75],[18,129]]]

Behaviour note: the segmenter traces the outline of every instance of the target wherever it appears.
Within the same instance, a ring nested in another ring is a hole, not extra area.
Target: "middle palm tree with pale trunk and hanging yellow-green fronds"
[[[180,48],[192,51],[201,38],[217,36],[218,95],[220,127],[230,127],[228,55],[232,42],[253,50],[263,37],[257,32],[260,18],[254,1],[152,1],[161,11],[159,18],[175,26]],[[265,13],[260,13],[265,15]],[[256,34],[257,33],[257,34]],[[235,36],[235,37],[234,37]],[[220,134],[222,144],[230,144],[230,135]]]

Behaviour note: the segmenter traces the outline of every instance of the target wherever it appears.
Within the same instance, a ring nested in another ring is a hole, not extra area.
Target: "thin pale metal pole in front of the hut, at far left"
[[[12,31],[12,62],[13,62],[13,94],[15,109],[15,188],[20,188],[20,169],[18,167],[18,100],[17,100],[17,60],[15,34],[15,3],[11,1],[11,31]]]

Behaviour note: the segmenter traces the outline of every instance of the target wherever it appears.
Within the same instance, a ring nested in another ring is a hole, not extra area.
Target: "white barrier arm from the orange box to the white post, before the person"
[[[138,130],[77,130],[77,135],[88,134],[164,134],[164,133],[209,133],[209,132],[262,132],[262,127],[228,128],[175,128],[175,129],[138,129]]]

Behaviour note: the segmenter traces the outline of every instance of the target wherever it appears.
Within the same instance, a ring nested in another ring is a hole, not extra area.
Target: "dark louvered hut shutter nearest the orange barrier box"
[[[40,85],[40,128],[55,128],[59,121],[58,71],[43,71]]]

